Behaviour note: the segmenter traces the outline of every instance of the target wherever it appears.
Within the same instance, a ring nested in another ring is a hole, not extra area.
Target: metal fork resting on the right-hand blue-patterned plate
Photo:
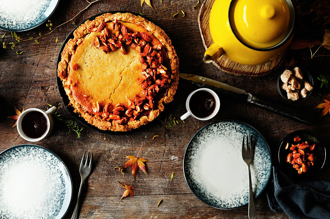
[[[246,137],[247,144],[245,145],[245,135],[243,136],[243,144],[242,144],[242,157],[244,162],[248,166],[248,180],[249,180],[249,195],[248,195],[248,218],[255,219],[257,218],[257,214],[255,212],[255,205],[253,199],[253,192],[252,192],[252,182],[251,182],[251,170],[250,164],[254,157],[254,145],[252,145],[251,135],[250,140],[248,136]]]

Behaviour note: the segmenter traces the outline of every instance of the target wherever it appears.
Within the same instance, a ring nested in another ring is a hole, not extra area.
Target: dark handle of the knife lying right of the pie
[[[248,94],[247,101],[257,105],[260,108],[269,110],[306,125],[312,125],[315,122],[315,114],[301,108],[293,107],[275,100],[266,99],[264,97],[252,94]]]

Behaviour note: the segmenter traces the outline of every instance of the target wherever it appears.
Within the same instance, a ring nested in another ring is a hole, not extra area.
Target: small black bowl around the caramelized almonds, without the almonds
[[[292,152],[290,150],[291,144],[298,144],[297,142],[293,141],[295,136],[299,136],[301,139],[298,143],[307,141],[308,144],[315,144],[315,149],[313,151],[313,155],[315,156],[314,166],[311,166],[307,172],[302,173],[301,175],[299,175],[298,171],[292,167],[291,163],[286,162],[288,153]],[[285,149],[286,143],[289,143],[288,149]],[[291,132],[283,139],[279,149],[279,162],[282,170],[286,172],[288,176],[299,179],[311,178],[318,174],[324,166],[325,158],[326,150],[323,141],[317,135],[308,130],[298,130]]]

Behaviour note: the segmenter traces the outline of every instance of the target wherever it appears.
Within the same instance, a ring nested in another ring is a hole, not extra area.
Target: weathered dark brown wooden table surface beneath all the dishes
[[[191,73],[213,78],[279,101],[285,101],[276,90],[276,73],[259,78],[234,76],[221,72],[212,64],[204,64],[202,56],[205,51],[197,24],[198,9],[193,9],[197,0],[154,0],[154,9],[146,4],[143,7],[138,0],[107,1],[101,0],[78,15],[72,22],[55,30],[42,38],[37,44],[33,41],[23,42],[14,50],[0,50],[0,151],[11,146],[27,144],[12,127],[14,120],[8,116],[15,115],[14,106],[19,110],[23,107],[46,109],[39,86],[44,90],[48,104],[59,107],[58,113],[64,120],[74,120],[68,110],[63,107],[56,86],[56,60],[62,41],[71,30],[84,19],[98,13],[111,10],[141,11],[150,20],[159,25],[172,39],[180,59],[182,73]],[[60,1],[58,8],[50,17],[53,25],[57,26],[71,19],[88,5],[83,0]],[[162,10],[158,10],[161,9]],[[181,10],[185,12],[182,17]],[[176,18],[171,13],[180,12]],[[23,39],[45,34],[49,27],[43,24],[33,30],[18,33]],[[11,39],[9,32],[0,31],[0,36],[6,33],[3,41]],[[58,37],[58,42],[55,40]],[[24,52],[20,55],[16,51]],[[303,62],[301,62],[303,63]],[[169,110],[172,118],[179,118],[185,113],[185,99],[188,94],[197,89],[186,81],[181,81],[176,100]],[[234,210],[219,210],[202,203],[190,191],[185,182],[182,170],[184,151],[191,137],[204,125],[217,120],[232,119],[248,123],[255,127],[267,140],[274,164],[277,165],[277,152],[282,139],[292,131],[309,129],[317,133],[324,141],[329,140],[329,117],[323,117],[312,126],[291,121],[268,111],[256,108],[234,99],[220,96],[221,109],[215,118],[209,121],[199,121],[188,118],[185,123],[179,121],[174,127],[161,127],[153,124],[137,133],[130,135],[101,134],[83,127],[81,137],[76,133],[68,133],[65,124],[55,120],[55,128],[51,136],[36,144],[55,152],[67,165],[73,180],[74,194],[72,204],[65,218],[71,218],[76,203],[80,184],[79,165],[83,151],[93,151],[95,169],[85,183],[82,195],[80,218],[247,218],[248,207],[243,206]],[[295,103],[301,108],[312,110],[319,101],[309,98],[307,101]],[[180,107],[180,110],[178,111]],[[314,110],[315,112],[319,112]],[[76,122],[76,121],[75,121]],[[154,140],[152,137],[159,135]],[[138,171],[134,181],[129,168],[122,175],[114,170],[122,166],[127,155],[135,155],[144,146],[140,156],[147,159],[147,175]],[[174,158],[173,158],[174,156]],[[224,167],[225,168],[225,167]],[[172,172],[174,179],[170,182]],[[329,170],[326,168],[318,178],[329,180]],[[120,201],[124,188],[117,181],[134,186],[134,197],[126,197]],[[163,202],[157,208],[160,199]],[[273,212],[263,193],[256,199],[258,218],[288,218],[281,212]]]

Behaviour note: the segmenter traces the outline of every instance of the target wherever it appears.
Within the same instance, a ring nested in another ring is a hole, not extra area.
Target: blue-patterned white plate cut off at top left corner
[[[59,0],[0,0],[0,29],[30,30],[44,23]]]

